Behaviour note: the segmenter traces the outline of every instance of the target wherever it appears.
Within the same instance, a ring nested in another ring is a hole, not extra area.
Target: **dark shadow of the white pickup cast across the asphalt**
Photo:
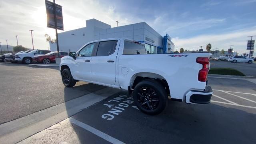
[[[95,84],[84,84],[74,89],[96,90],[98,87]],[[68,91],[69,88],[65,88],[65,100],[74,95]],[[216,103],[195,105],[169,100],[164,112],[156,116],[140,112],[132,103],[122,112],[113,114],[113,119],[102,118],[111,109],[104,104],[120,94],[129,97],[127,92],[114,94],[72,118],[125,143],[256,143],[256,111],[253,108]],[[72,126],[80,143],[88,142],[88,133],[75,124]],[[107,142],[100,137],[91,139],[92,143]]]

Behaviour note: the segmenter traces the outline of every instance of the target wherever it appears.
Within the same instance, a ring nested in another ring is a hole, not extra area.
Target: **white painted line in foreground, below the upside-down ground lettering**
[[[81,128],[88,130],[89,132],[103,138],[104,140],[107,140],[108,142],[111,142],[112,144],[124,144],[124,142],[121,142],[120,140],[113,138],[112,136],[109,136],[108,134],[105,134],[104,132],[101,132],[87,124],[84,124],[78,120],[75,120],[74,118],[69,118],[69,119],[71,123],[76,124],[77,126],[80,126]]]

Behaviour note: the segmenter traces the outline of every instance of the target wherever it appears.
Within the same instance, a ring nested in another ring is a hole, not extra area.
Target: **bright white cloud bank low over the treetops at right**
[[[211,43],[212,49],[218,48],[218,50],[227,50],[229,45],[234,45],[233,50],[238,50],[241,54],[246,51],[247,45],[247,36],[253,35],[256,33],[256,27],[251,27],[247,29],[237,30],[233,32],[228,32],[226,34],[215,34],[215,35],[200,35],[192,38],[172,38],[175,46],[178,48],[184,48],[186,50],[193,50],[193,48],[199,49],[200,46],[203,46],[205,49],[206,44]]]

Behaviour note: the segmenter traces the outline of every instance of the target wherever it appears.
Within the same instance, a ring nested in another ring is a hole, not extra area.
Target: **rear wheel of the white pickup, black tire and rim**
[[[132,94],[136,106],[146,114],[159,114],[167,105],[168,96],[166,90],[156,80],[139,82]]]

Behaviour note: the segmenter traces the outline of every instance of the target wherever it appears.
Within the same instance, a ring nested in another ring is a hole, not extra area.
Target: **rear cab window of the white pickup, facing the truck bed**
[[[146,54],[145,46],[134,42],[124,41],[123,54]]]

